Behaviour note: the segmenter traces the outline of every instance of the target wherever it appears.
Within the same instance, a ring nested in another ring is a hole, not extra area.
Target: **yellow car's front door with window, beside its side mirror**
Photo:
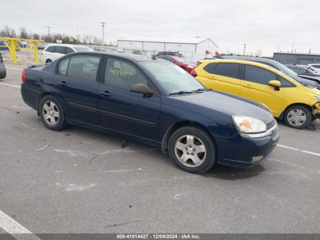
[[[285,87],[275,87],[268,83],[279,79],[277,74],[250,64],[243,64],[242,69],[240,95],[265,104],[278,117],[281,114]]]

